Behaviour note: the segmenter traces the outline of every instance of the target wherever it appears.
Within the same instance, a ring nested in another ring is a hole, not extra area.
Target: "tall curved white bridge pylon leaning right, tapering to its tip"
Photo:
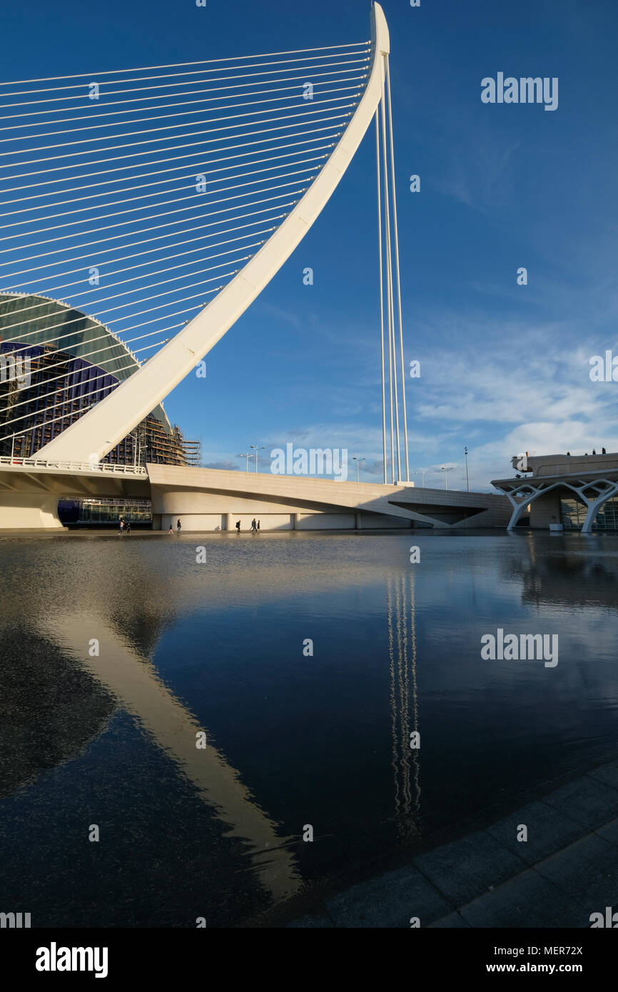
[[[244,269],[183,330],[109,396],[41,448],[48,460],[102,458],[168,396],[279,272],[354,157],[382,97],[390,52],[382,7],[372,10],[373,58],[365,92],[338,145],[303,198]]]

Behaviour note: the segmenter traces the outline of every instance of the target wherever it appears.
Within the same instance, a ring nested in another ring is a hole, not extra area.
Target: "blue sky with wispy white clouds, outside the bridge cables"
[[[364,41],[352,0],[7,3],[4,79]],[[487,489],[510,456],[618,450],[615,39],[611,0],[384,0],[409,381],[410,458],[443,485]],[[557,76],[556,112],[483,104],[481,79]],[[421,176],[420,193],[409,177]],[[347,448],[380,481],[373,135],[275,280],[166,401],[203,461],[244,467],[249,444]],[[314,271],[305,286],[303,271]],[[517,270],[528,270],[528,286]],[[268,470],[269,460],[261,465]],[[421,484],[421,476],[415,476]]]

